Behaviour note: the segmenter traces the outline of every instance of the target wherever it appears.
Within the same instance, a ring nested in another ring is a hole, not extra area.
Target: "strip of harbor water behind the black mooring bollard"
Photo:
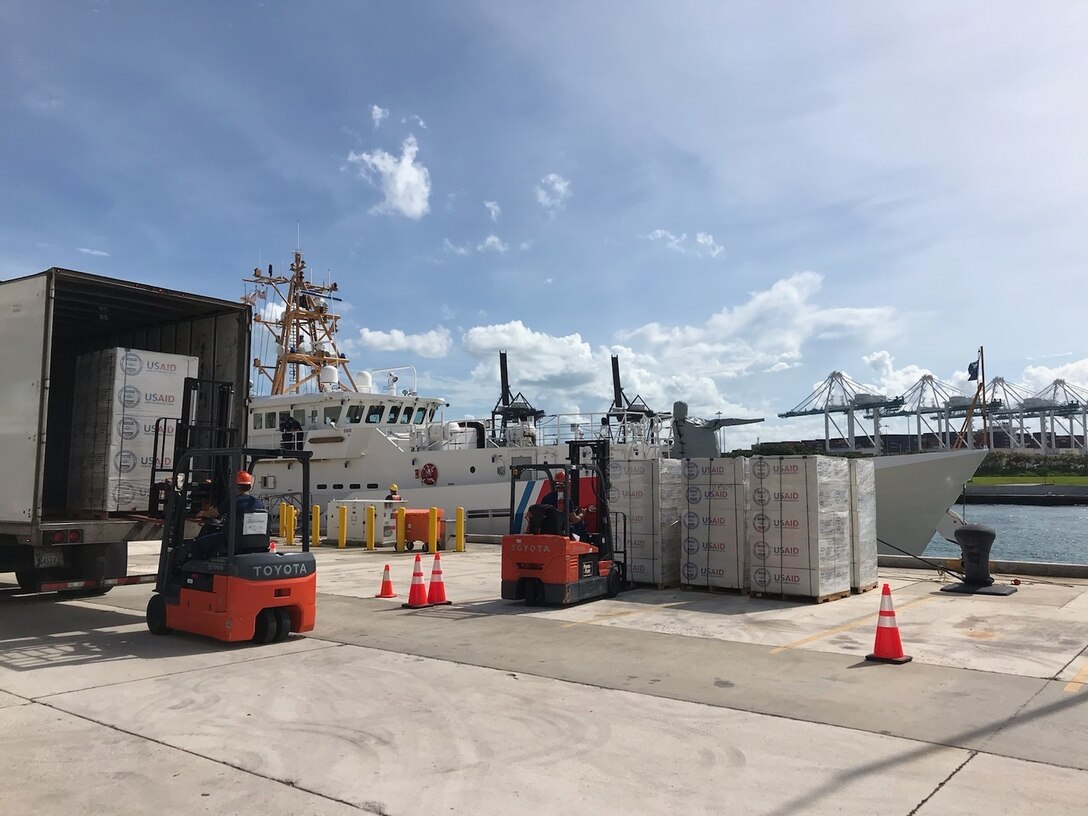
[[[956,505],[972,524],[997,532],[990,558],[1004,561],[1088,564],[1088,507]],[[960,547],[935,535],[923,555],[960,556]]]

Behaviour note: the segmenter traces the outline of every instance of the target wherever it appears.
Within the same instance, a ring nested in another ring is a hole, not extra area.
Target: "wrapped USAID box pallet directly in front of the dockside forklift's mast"
[[[627,578],[635,583],[675,586],[680,582],[679,459],[623,459],[608,467],[608,506],[627,522]]]

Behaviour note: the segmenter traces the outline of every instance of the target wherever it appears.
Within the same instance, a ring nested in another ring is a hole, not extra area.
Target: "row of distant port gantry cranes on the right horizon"
[[[1088,393],[1064,380],[1033,394],[996,376],[967,396],[925,374],[902,396],[888,397],[832,371],[804,401],[778,416],[820,415],[825,450],[883,453],[887,420],[904,418],[916,450],[986,447],[1088,455]]]

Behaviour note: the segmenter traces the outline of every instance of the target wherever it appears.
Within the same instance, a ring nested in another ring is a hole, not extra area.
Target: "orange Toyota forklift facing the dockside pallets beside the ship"
[[[627,585],[626,534],[615,540],[619,514],[608,511],[607,445],[607,440],[572,442],[570,463],[511,468],[504,599],[568,605],[615,597]],[[586,448],[594,454],[593,463],[581,462]],[[543,479],[532,479],[534,473]],[[576,509],[585,518],[580,532],[570,522]]]

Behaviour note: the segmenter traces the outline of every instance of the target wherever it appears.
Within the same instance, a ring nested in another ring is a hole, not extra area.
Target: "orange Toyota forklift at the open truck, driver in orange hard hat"
[[[176,460],[165,486],[165,516],[154,594],[147,604],[152,634],[193,632],[221,641],[271,643],[313,629],[317,562],[309,524],[301,526],[302,552],[269,552],[268,510],[230,512],[219,534],[224,555],[194,557],[185,537],[202,507],[227,498],[237,507],[238,479],[262,459],[294,459],[302,469],[301,506],[310,506],[310,452],[254,448],[189,449]],[[201,480],[200,474],[212,478]],[[196,478],[194,475],[196,474]],[[239,518],[240,516],[240,518]],[[206,523],[201,533],[213,533]],[[198,547],[198,551],[200,548]]]

